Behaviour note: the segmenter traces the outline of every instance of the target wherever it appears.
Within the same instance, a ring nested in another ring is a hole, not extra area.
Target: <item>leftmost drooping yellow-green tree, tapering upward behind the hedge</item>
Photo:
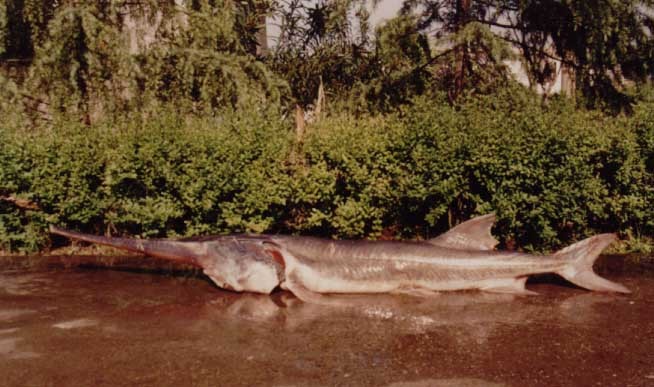
[[[62,7],[35,47],[27,91],[52,115],[92,115],[121,110],[130,93],[132,61],[122,45],[112,7]]]

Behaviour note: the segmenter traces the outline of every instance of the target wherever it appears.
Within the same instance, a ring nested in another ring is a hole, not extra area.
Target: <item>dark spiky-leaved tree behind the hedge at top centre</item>
[[[369,70],[369,13],[362,0],[282,2],[276,10],[280,36],[270,58],[301,105],[314,102],[323,82],[346,94]]]

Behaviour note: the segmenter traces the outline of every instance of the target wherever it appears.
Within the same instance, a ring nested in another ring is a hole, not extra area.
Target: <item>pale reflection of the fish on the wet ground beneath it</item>
[[[325,321],[368,321],[392,324],[396,333],[422,334],[444,329],[465,331],[460,340],[480,344],[501,326],[529,325],[534,321],[580,324],[598,317],[595,306],[615,297],[604,294],[576,294],[547,303],[511,294],[457,292],[421,298],[406,295],[334,295],[329,304],[305,303],[296,297],[244,294],[224,296],[207,302],[194,319],[204,331],[221,321],[252,322],[269,329],[297,331]],[[205,326],[206,325],[206,326]],[[390,325],[389,325],[390,326]]]

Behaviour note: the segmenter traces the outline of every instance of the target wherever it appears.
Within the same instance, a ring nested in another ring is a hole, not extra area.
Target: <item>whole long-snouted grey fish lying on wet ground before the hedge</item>
[[[527,277],[556,273],[588,290],[629,293],[599,277],[593,263],[614,234],[552,255],[494,250],[493,214],[426,241],[337,241],[301,236],[230,235],[199,239],[110,238],[51,227],[53,234],[201,267],[221,288],[270,293],[281,287],[305,301],[324,293],[422,293],[479,289],[532,294]]]

